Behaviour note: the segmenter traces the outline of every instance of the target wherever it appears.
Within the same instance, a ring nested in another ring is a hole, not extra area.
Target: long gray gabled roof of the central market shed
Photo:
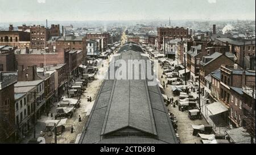
[[[142,50],[125,48],[115,63],[147,59]],[[146,72],[146,66],[139,68],[139,73]],[[141,78],[115,78],[102,83],[79,143],[177,143],[177,139],[158,85],[148,86]]]

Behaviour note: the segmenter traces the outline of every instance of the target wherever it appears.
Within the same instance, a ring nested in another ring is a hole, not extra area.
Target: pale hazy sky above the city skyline
[[[0,0],[0,22],[255,19],[255,0]]]

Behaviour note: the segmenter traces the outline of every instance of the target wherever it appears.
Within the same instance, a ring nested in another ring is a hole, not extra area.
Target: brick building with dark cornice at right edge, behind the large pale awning
[[[242,126],[242,104],[247,102],[243,98],[242,87],[255,85],[255,72],[243,70],[238,65],[222,65],[220,67],[220,102],[229,108],[229,127]]]

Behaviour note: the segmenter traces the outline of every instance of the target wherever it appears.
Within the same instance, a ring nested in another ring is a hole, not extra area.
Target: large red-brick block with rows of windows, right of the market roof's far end
[[[163,37],[168,37],[171,39],[175,38],[189,38],[188,28],[184,29],[183,27],[158,27],[158,49],[162,48]]]

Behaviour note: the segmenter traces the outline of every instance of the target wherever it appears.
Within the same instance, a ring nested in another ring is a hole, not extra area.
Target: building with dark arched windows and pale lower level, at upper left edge
[[[1,45],[9,45],[16,48],[30,47],[30,33],[13,30],[0,31],[0,46]]]

